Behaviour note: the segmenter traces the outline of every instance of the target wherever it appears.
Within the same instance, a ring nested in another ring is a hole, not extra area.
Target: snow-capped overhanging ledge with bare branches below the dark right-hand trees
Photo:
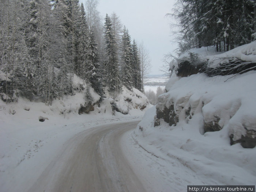
[[[170,62],[170,69],[181,77],[199,72],[215,76],[242,74],[255,70],[256,41],[227,52],[215,52],[214,46],[190,49]]]

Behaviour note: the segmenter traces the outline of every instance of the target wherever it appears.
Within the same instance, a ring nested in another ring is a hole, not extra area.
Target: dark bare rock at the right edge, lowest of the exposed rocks
[[[246,129],[246,128],[245,128]],[[236,143],[241,143],[241,146],[244,148],[254,148],[256,146],[256,131],[252,129],[246,129],[246,135],[242,135],[240,139],[238,140],[233,140],[234,135],[231,134],[229,136],[230,138],[230,144],[236,144]]]

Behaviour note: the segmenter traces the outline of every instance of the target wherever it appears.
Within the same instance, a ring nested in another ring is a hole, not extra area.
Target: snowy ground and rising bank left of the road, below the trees
[[[19,98],[18,102],[0,100],[0,191],[27,191],[63,144],[80,132],[97,125],[140,120],[151,107],[140,91],[123,87],[118,98],[103,99],[89,114],[79,115],[86,105],[86,85],[74,76],[75,95],[65,95],[51,105]],[[90,87],[93,103],[99,95]],[[113,105],[120,112],[113,112]],[[122,114],[125,113],[126,115]],[[39,120],[44,120],[43,122]]]

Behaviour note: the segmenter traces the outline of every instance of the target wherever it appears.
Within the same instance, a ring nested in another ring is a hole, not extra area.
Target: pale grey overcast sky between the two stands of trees
[[[82,0],[84,5],[86,0]],[[129,30],[132,40],[144,42],[151,58],[151,75],[163,74],[159,68],[164,54],[175,49],[168,18],[176,0],[99,0],[97,10],[105,18],[115,12]],[[104,21],[103,21],[104,23]]]

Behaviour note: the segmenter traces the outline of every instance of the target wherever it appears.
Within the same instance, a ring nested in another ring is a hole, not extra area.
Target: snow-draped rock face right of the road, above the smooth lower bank
[[[159,126],[161,119],[170,126],[190,124],[194,116],[200,116],[197,126],[202,135],[224,129],[230,144],[255,147],[256,72],[228,78],[196,74],[179,79],[173,74],[166,86],[168,92],[158,97],[154,126]]]

